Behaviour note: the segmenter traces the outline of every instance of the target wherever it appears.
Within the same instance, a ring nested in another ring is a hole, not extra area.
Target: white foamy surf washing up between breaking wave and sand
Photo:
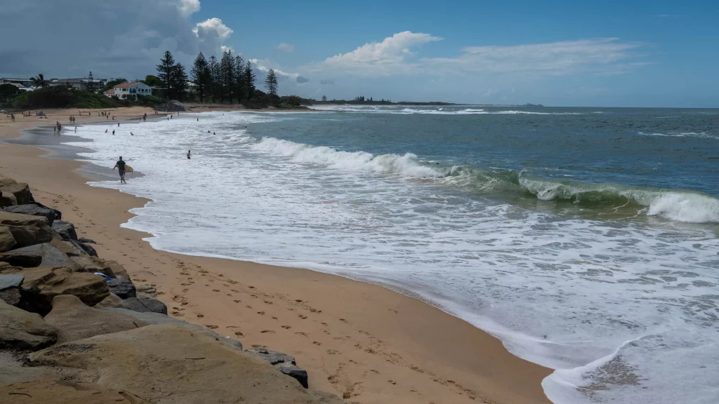
[[[411,154],[238,129],[278,115],[200,117],[122,124],[116,136],[78,129],[93,140],[88,161],[111,167],[122,154],[145,173],[93,185],[152,199],[124,226],[153,234],[153,247],[411,290],[557,369],[544,382],[557,404],[719,402],[713,228],[527,210],[449,187]],[[711,219],[682,198],[667,193],[647,214]]]

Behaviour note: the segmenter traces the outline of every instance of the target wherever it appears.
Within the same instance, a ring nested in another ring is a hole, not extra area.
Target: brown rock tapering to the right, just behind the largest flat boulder
[[[58,344],[147,326],[145,321],[122,313],[88,307],[73,295],[55,296],[45,323],[58,331]]]

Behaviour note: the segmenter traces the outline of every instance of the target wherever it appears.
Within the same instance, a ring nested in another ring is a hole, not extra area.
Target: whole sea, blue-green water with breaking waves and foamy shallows
[[[557,404],[719,403],[719,110],[320,108],[73,145],[144,174],[91,185],[150,198],[124,226],[156,249],[421,298],[555,369]]]

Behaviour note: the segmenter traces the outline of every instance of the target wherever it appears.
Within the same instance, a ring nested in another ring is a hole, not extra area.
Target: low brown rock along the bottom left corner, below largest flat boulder
[[[132,393],[92,383],[46,378],[0,387],[0,403],[150,404]]]

